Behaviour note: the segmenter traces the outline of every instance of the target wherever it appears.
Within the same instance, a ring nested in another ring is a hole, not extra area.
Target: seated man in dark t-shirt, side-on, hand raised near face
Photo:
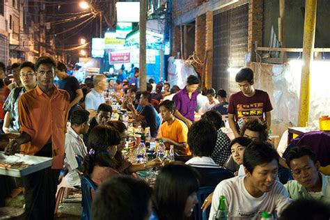
[[[139,113],[134,108],[132,101],[127,103],[127,108],[132,111],[133,117],[136,121],[141,121],[143,128],[150,127],[150,135],[157,137],[157,120],[154,109],[151,104],[151,94],[148,91],[144,91],[141,95],[139,105],[142,107]]]

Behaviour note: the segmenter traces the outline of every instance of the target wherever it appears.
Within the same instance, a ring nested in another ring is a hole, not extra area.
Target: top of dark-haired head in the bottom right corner
[[[283,210],[280,220],[329,220],[329,204],[315,199],[299,198]]]

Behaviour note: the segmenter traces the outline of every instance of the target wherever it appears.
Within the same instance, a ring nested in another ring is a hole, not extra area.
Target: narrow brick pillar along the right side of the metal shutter
[[[250,0],[248,52],[251,53],[251,61],[256,61],[256,41],[258,41],[258,45],[262,46],[262,14],[263,0]]]

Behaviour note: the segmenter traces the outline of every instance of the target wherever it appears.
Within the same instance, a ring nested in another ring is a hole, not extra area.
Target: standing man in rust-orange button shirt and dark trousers
[[[20,146],[26,155],[53,157],[52,168],[23,177],[26,219],[53,219],[55,194],[63,168],[65,129],[70,97],[54,86],[56,63],[49,56],[36,62],[38,86],[24,93],[18,102],[20,135],[6,152]]]

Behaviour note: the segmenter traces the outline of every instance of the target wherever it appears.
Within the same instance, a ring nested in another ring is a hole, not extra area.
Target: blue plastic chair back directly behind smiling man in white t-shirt
[[[214,191],[215,187],[200,187],[197,191],[198,204],[194,207],[195,220],[207,220],[209,218],[211,206],[207,207],[206,212],[201,210],[205,198]]]

